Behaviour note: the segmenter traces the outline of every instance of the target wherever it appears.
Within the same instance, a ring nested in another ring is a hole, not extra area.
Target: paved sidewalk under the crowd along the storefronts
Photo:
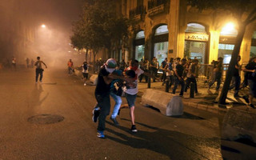
[[[151,89],[162,90],[165,92],[166,86],[162,86],[162,82],[151,82]],[[172,86],[173,87],[173,86]],[[142,96],[142,94],[147,89],[146,82],[138,83],[138,96]],[[176,90],[176,94],[178,95],[180,87]],[[172,90],[169,90],[171,93]],[[201,94],[194,95],[194,98],[190,98],[190,89],[184,93],[182,102],[186,106],[198,108],[199,110],[206,110],[214,114],[226,114],[226,111],[232,107],[244,108],[245,110],[254,110],[249,106],[246,106],[246,102],[243,98],[234,98],[234,91],[230,90],[228,92],[226,102],[228,105],[219,105],[218,104],[218,94],[221,94],[221,90],[219,93],[215,92],[215,86],[212,86],[210,90],[208,90],[208,84],[198,81],[198,92]],[[239,94],[241,96],[248,95],[248,89],[240,90]],[[254,101],[255,104],[255,101]]]

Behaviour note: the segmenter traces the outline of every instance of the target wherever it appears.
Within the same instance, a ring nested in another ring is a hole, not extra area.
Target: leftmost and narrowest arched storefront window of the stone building
[[[145,34],[144,31],[139,31],[138,34],[136,34],[135,40],[134,40],[134,50],[135,55],[134,58],[138,60],[138,62],[141,61],[141,59],[144,59],[144,50],[145,50]]]

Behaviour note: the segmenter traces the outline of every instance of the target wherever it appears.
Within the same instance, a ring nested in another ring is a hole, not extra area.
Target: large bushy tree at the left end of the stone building
[[[72,45],[92,50],[94,62],[99,50],[106,48],[110,57],[112,46],[128,37],[129,21],[116,13],[115,4],[114,0],[87,2],[80,19],[74,23]]]

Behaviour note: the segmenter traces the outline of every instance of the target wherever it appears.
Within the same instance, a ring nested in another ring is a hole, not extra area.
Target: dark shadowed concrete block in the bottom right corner
[[[230,108],[222,125],[222,138],[231,141],[247,138],[256,143],[256,110],[246,106]]]

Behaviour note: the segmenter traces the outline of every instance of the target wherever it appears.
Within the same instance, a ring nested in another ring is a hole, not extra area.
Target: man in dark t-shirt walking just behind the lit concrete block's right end
[[[186,63],[186,59],[182,59],[181,62],[179,62],[177,64],[177,66],[175,67],[174,69],[174,89],[173,89],[173,93],[172,94],[175,94],[175,91],[178,87],[178,85],[181,85],[182,86],[182,89],[181,89],[181,92],[180,92],[180,96],[182,97],[183,96],[183,92],[184,92],[184,89],[185,89],[185,82],[184,82],[184,79],[183,79],[183,71],[184,71],[184,65]]]

